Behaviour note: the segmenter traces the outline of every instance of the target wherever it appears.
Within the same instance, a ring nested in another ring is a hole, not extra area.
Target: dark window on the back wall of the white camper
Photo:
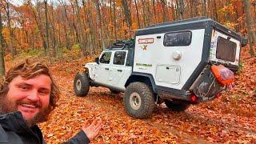
[[[237,44],[229,39],[218,37],[217,54],[218,59],[234,62]]]

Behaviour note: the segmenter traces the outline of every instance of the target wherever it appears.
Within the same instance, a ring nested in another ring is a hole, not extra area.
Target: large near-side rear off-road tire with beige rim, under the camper
[[[126,112],[134,118],[149,118],[155,106],[152,90],[142,82],[130,83],[126,87],[123,101]]]

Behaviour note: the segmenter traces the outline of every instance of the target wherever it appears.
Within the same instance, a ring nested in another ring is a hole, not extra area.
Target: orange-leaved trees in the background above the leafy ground
[[[60,51],[72,47],[87,56],[117,39],[133,38],[139,28],[203,16],[247,34],[247,4],[250,4],[250,26],[255,33],[255,3],[248,0],[2,0],[2,46],[5,54],[12,56],[38,49],[58,56]]]

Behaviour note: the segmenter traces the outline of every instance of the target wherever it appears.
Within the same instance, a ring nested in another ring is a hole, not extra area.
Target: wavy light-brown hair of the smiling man
[[[50,111],[54,110],[54,108],[57,106],[56,103],[58,102],[60,94],[58,86],[54,82],[54,79],[52,78],[47,66],[40,62],[31,62],[28,59],[11,67],[10,70],[7,71],[6,76],[2,78],[2,82],[0,83],[0,99],[6,97],[9,90],[8,85],[14,78],[21,76],[22,78],[30,79],[37,77],[40,74],[46,74],[50,77],[51,90],[49,108]]]

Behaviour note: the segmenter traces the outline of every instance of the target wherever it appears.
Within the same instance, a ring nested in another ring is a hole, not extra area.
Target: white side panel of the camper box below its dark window
[[[205,30],[190,30],[192,40],[190,46],[163,46],[164,34],[149,34],[136,37],[134,51],[134,71],[152,74],[157,86],[166,86],[181,90],[190,75],[201,62],[202,46]],[[157,38],[161,36],[161,38]],[[145,47],[138,44],[139,38],[154,38],[154,43]],[[173,53],[179,51],[182,57],[178,60],[173,58]],[[136,66],[136,63],[150,64],[152,66]],[[165,66],[171,69],[164,70]],[[179,73],[176,72],[179,68]],[[164,70],[164,72],[159,72]],[[164,80],[165,79],[165,80]]]

